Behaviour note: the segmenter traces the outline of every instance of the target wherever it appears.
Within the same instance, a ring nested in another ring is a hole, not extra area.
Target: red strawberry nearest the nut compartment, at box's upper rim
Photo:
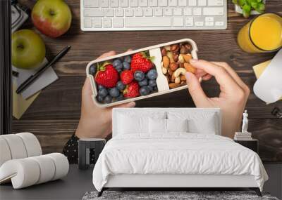
[[[149,69],[152,69],[154,66],[152,63],[153,57],[150,57],[145,52],[135,53],[131,60],[131,70],[133,73],[137,70],[140,70],[144,73],[148,72]]]

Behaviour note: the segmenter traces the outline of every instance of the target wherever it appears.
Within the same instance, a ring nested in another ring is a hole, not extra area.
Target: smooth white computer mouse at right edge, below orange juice
[[[259,79],[255,82],[254,93],[266,103],[273,103],[282,97],[282,49],[275,57]]]

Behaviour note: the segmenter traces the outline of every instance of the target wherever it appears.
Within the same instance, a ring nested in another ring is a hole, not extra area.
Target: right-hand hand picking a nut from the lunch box
[[[197,68],[196,75],[186,74],[188,89],[196,107],[220,107],[223,113],[222,135],[233,138],[235,131],[240,129],[250,89],[226,62],[191,60],[190,63]],[[198,81],[200,76],[203,80],[215,77],[221,90],[218,98],[207,97]]]

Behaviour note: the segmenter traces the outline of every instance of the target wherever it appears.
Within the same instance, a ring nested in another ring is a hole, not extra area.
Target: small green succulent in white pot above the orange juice
[[[232,0],[235,4],[235,11],[243,14],[245,18],[250,15],[264,13],[266,0]]]

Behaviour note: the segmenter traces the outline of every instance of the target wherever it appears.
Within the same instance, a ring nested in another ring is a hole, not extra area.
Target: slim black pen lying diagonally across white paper
[[[35,81],[43,72],[45,72],[46,69],[51,67],[51,65],[54,65],[58,60],[60,60],[63,57],[63,55],[66,55],[66,53],[68,53],[70,48],[71,48],[71,46],[66,46],[65,48],[63,48],[63,50],[60,53],[58,53],[58,55],[56,55],[55,58],[53,58],[53,60],[51,60],[51,62],[47,62],[34,75],[28,77],[28,79],[26,79],[23,82],[23,84],[20,84],[20,86],[18,86],[16,93],[19,94],[19,93],[23,92],[25,90],[25,88],[30,86],[30,84],[32,84],[33,81]]]

